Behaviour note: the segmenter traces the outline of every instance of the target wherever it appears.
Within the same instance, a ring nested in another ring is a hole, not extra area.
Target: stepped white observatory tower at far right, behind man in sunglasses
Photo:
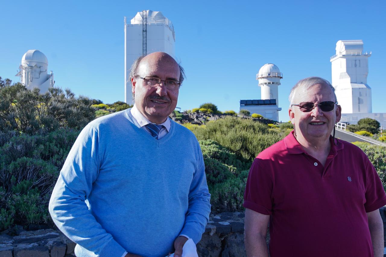
[[[330,58],[332,86],[342,107],[340,122],[356,124],[361,118],[378,120],[386,127],[386,113],[372,113],[371,88],[367,85],[368,57],[362,40],[339,40]]]

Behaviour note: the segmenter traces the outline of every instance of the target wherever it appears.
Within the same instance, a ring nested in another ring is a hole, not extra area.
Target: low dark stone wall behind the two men
[[[386,235],[386,208],[382,207],[379,211]],[[384,239],[386,243],[386,237]],[[0,235],[0,257],[72,257],[74,248],[74,242],[63,233],[52,229],[22,230],[14,237],[5,233]],[[211,214],[205,233],[197,244],[197,252],[200,257],[246,256],[244,212]]]

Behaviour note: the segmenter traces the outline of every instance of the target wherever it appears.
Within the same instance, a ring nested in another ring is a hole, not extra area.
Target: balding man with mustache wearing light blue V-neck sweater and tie
[[[183,68],[155,52],[137,59],[130,75],[134,107],[82,130],[52,192],[52,219],[77,243],[77,256],[181,256],[208,222],[200,146],[168,118]]]

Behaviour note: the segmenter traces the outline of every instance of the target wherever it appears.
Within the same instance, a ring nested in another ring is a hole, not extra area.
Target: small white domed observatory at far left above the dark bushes
[[[20,83],[32,90],[39,88],[40,93],[46,93],[54,86],[54,74],[47,74],[47,57],[39,50],[28,50],[22,57],[19,72]]]

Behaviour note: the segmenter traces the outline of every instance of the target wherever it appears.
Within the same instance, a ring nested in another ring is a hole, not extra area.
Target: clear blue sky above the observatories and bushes
[[[183,110],[212,102],[239,111],[260,99],[256,73],[266,63],[283,73],[279,120],[289,90],[308,76],[331,81],[338,40],[362,39],[369,57],[372,111],[386,112],[386,1],[5,1],[0,0],[0,76],[15,77],[23,54],[42,51],[56,86],[104,103],[124,100],[124,16],[161,11],[173,22],[176,57],[186,70]]]

